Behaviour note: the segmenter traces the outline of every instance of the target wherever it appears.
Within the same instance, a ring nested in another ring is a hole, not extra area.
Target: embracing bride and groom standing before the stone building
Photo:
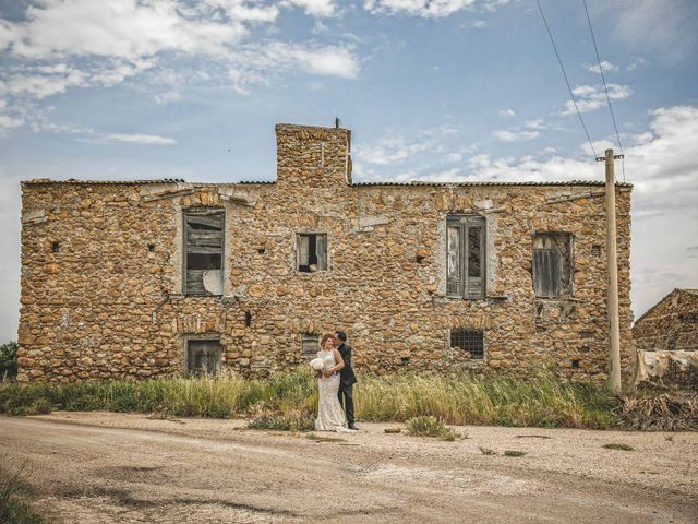
[[[317,431],[357,430],[353,425],[353,384],[351,346],[344,331],[325,333],[320,340],[317,358],[310,362],[317,376]],[[342,409],[344,404],[344,409]]]

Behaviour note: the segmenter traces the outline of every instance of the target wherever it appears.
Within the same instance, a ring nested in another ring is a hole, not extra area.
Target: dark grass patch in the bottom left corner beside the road
[[[32,490],[23,479],[25,466],[10,468],[7,462],[7,456],[0,456],[0,523],[46,523],[29,503]]]

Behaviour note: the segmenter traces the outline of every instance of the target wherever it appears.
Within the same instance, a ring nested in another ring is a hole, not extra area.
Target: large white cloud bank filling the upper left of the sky
[[[249,27],[274,23],[280,9],[290,8],[338,14],[334,0],[39,0],[22,21],[0,19],[0,52],[10,59],[0,66],[0,96],[29,112],[35,100],[75,87],[115,86],[146,71],[151,84],[139,87],[155,86],[152,96],[160,105],[181,99],[177,87],[184,83],[222,82],[249,93],[275,85],[281,74],[357,78],[353,44],[242,41]],[[181,74],[179,59],[194,56],[198,70]],[[171,64],[177,72],[168,74]],[[3,114],[0,126],[24,121],[32,118]]]

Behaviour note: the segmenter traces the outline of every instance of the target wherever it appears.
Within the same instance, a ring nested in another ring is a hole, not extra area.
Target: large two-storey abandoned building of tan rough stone
[[[353,183],[349,130],[276,136],[275,182],[23,182],[20,380],[265,374],[332,329],[359,370],[606,377],[603,182]]]

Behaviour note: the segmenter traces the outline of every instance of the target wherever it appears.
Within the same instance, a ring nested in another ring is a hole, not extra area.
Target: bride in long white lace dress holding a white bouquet
[[[334,345],[334,336],[325,333],[320,341],[320,352],[317,358],[311,362],[317,374],[317,418],[315,419],[315,430],[317,431],[341,431],[347,419],[345,412],[337,398],[339,391],[338,371],[345,367],[341,355]]]

